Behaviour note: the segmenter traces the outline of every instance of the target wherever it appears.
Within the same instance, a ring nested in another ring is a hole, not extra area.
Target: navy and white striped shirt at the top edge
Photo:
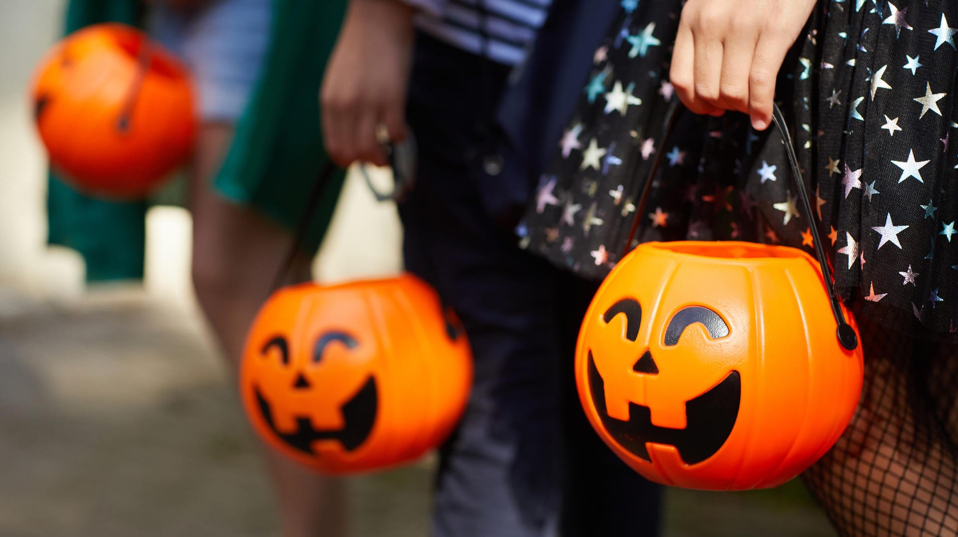
[[[552,0],[404,0],[426,34],[506,65],[520,63]]]

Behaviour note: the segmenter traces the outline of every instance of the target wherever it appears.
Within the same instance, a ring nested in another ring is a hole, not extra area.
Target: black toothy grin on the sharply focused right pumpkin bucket
[[[672,429],[652,425],[649,407],[628,403],[628,421],[607,414],[605,383],[596,369],[592,351],[588,363],[589,389],[599,419],[608,434],[631,454],[651,461],[647,443],[674,446],[686,464],[709,459],[732,434],[739,416],[741,376],[733,370],[708,392],[685,403],[686,426]]]

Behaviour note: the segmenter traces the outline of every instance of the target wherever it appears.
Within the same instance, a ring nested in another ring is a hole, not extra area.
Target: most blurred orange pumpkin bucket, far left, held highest
[[[57,43],[36,70],[32,94],[51,165],[90,194],[143,197],[193,147],[186,68],[121,24],[90,26]]]

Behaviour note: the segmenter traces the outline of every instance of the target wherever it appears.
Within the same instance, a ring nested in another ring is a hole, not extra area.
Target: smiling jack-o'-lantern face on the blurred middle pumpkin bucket
[[[338,441],[347,452],[362,445],[376,422],[376,377],[360,372],[352,375],[359,379],[355,386],[324,387],[341,389],[335,390],[341,393],[333,394],[317,391],[314,378],[324,374],[323,369],[337,369],[334,364],[329,365],[330,361],[349,361],[345,354],[361,352],[358,347],[356,339],[344,331],[325,332],[316,339],[312,352],[306,353],[308,363],[293,364],[285,336],[269,339],[262,346],[262,360],[266,362],[262,367],[273,370],[261,374],[253,390],[257,409],[270,431],[289,447],[309,456],[316,455],[314,443],[320,440]],[[271,392],[274,387],[280,389],[279,397]]]

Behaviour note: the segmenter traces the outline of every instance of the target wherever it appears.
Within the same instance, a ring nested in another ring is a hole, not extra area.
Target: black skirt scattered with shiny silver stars
[[[781,136],[743,114],[685,115],[668,80],[679,0],[624,1],[521,244],[601,279],[642,240],[751,240],[811,252],[817,226],[849,301],[929,334],[958,327],[958,2],[820,2],[792,48],[777,99],[792,128],[814,214],[797,202]],[[636,198],[666,151],[647,207]],[[917,321],[916,321],[917,320]]]

